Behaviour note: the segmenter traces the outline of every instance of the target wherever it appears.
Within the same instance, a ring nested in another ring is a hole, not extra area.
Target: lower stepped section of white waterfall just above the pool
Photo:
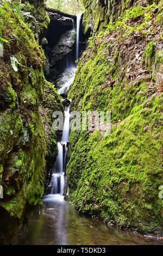
[[[66,155],[67,142],[70,136],[70,106],[65,108],[65,121],[62,132],[61,142],[58,142],[58,155],[53,167],[52,175],[52,191],[51,194],[63,196],[65,186],[65,169],[66,169]]]

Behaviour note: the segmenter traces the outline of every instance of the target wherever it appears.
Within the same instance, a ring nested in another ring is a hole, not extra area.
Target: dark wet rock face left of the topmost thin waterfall
[[[44,66],[45,77],[55,84],[58,76],[68,64],[74,62],[74,50],[76,44],[76,32],[73,30],[74,21],[70,17],[60,14],[48,13],[51,23],[48,28],[45,47],[47,63]]]

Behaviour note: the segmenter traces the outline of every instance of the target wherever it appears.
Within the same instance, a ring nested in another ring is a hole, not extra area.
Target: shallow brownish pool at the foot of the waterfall
[[[29,220],[27,234],[18,245],[161,245],[130,231],[110,228],[90,217],[79,215],[60,195],[44,198],[44,208]]]

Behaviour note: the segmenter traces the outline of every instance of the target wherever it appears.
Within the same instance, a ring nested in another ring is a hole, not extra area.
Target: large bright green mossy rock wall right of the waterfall
[[[87,14],[95,2],[85,5]],[[110,111],[112,124],[110,136],[71,132],[68,199],[106,223],[163,235],[162,2],[133,2],[116,22],[96,26],[101,32],[79,60],[71,109]]]

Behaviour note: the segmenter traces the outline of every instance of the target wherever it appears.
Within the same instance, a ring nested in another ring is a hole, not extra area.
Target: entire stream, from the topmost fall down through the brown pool
[[[76,57],[79,57],[81,16],[77,16]],[[59,94],[73,82],[74,66],[65,70]],[[67,80],[68,72],[68,80]],[[29,219],[28,231],[18,237],[18,245],[161,245],[163,241],[109,227],[101,221],[78,213],[64,200],[67,142],[70,136],[70,106],[65,109],[62,139],[53,167],[52,191],[43,197],[43,210]]]

